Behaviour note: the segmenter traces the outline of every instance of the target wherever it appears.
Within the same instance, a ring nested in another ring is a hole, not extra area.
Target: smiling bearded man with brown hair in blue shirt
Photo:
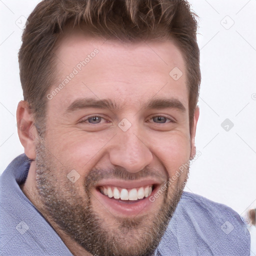
[[[44,0],[19,51],[24,154],[0,179],[1,255],[249,255],[225,205],[183,192],[199,50],[185,0]]]

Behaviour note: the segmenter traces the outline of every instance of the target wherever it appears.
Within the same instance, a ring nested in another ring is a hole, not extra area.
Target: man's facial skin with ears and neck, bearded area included
[[[190,136],[186,68],[171,40],[104,41],[78,29],[58,42],[56,82],[49,92],[94,48],[98,53],[47,101],[43,138],[27,103],[19,102],[18,135],[25,154],[35,159],[20,187],[74,255],[150,255],[181,196],[188,169],[152,202],[150,210],[130,217],[103,205],[95,184],[111,177],[154,177],[163,185],[195,154],[199,109]],[[177,81],[169,75],[174,67],[183,72]],[[74,100],[85,97],[111,99],[119,108],[66,111]],[[144,107],[156,98],[176,99],[184,111]],[[91,115],[101,116],[100,122],[89,123]],[[127,131],[118,127],[123,118],[131,123]],[[80,175],[74,183],[67,178],[72,169]]]

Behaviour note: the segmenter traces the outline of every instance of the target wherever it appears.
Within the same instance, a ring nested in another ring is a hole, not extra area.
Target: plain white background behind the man
[[[0,173],[23,152],[15,119],[22,99],[17,52],[22,23],[38,2],[0,0]],[[185,190],[245,215],[256,207],[256,1],[189,2],[200,18],[196,146],[201,156],[190,168]],[[234,124],[229,131],[221,126],[226,118]]]

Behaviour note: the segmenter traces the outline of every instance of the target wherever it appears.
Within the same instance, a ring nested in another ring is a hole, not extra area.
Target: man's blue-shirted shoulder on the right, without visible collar
[[[250,235],[233,209],[184,191],[159,250],[163,255],[171,250],[172,255],[244,256],[249,255]]]

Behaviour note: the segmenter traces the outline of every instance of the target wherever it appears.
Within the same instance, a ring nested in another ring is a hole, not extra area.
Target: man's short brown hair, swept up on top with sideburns
[[[54,47],[67,23],[85,24],[106,38],[174,39],[186,63],[191,132],[200,68],[197,22],[186,0],[43,0],[28,17],[18,55],[23,97],[41,133],[46,94],[54,83]]]

